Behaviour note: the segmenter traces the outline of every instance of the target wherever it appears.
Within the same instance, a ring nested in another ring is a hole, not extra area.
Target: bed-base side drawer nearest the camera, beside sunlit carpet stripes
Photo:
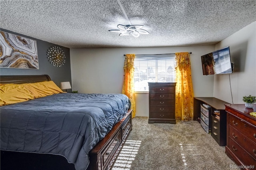
[[[101,156],[102,156],[102,166],[104,167],[107,165],[107,162],[112,158],[112,154],[116,151],[116,148],[119,146],[121,141],[121,132],[120,130],[118,133],[115,134],[114,138],[110,141],[106,149],[103,150]]]

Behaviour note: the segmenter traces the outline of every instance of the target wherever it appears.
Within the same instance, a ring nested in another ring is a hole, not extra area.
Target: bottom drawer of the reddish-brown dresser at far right
[[[239,144],[229,137],[228,148],[241,160],[245,165],[256,167],[256,160],[246,152]]]

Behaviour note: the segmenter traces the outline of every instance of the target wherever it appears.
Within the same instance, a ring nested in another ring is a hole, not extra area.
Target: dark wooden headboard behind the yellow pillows
[[[48,75],[0,75],[1,84],[22,84],[51,81]]]

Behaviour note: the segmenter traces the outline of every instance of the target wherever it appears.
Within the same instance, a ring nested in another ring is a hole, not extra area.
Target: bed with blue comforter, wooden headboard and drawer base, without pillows
[[[0,80],[18,85],[51,81],[48,75],[1,76]],[[47,169],[60,163],[57,156],[76,170],[110,169],[132,130],[130,101],[122,94],[57,93],[1,106],[0,113],[1,169],[12,169],[6,163],[9,154],[10,158],[37,154],[39,162],[41,155],[50,155],[51,161],[56,157]]]

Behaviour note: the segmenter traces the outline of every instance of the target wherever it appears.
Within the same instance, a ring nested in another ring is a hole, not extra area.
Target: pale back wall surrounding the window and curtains
[[[124,54],[190,54],[195,97],[212,97],[214,75],[203,75],[201,55],[215,50],[215,45],[177,47],[127,47],[70,49],[72,90],[80,93],[122,93]],[[148,117],[148,93],[136,93],[136,115]]]

